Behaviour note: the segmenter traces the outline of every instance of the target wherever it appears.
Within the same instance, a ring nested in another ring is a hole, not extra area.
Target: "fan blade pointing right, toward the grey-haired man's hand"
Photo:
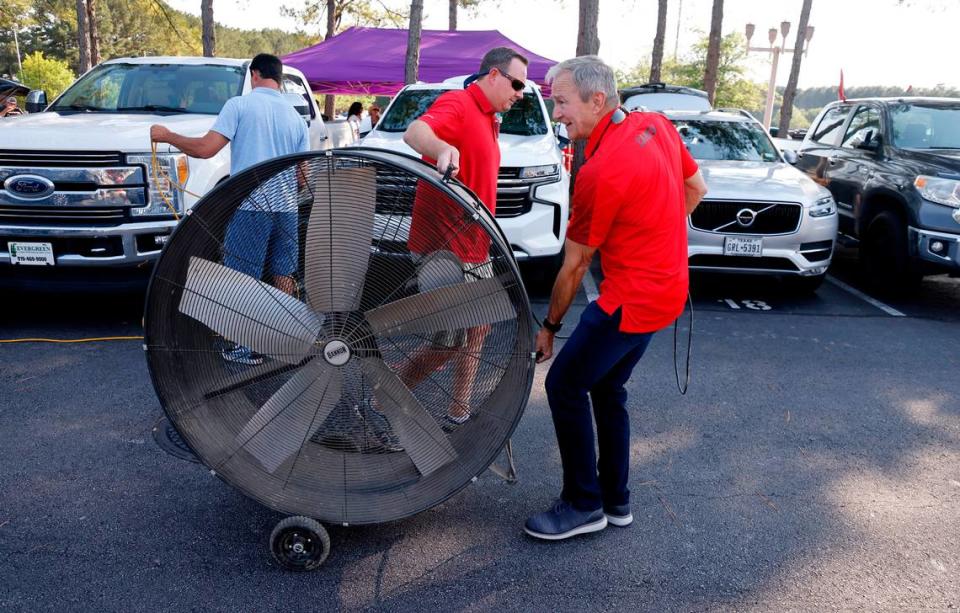
[[[396,336],[472,328],[513,319],[517,311],[499,279],[458,283],[367,311],[375,334]]]

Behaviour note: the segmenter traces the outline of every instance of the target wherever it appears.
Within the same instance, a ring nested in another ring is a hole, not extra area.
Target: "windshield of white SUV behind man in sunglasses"
[[[408,89],[400,92],[387,113],[377,124],[383,132],[403,132],[413,120],[423,115],[430,105],[445,91],[442,89]],[[500,132],[520,136],[546,134],[549,131],[543,109],[536,94],[525,93],[502,117]]]

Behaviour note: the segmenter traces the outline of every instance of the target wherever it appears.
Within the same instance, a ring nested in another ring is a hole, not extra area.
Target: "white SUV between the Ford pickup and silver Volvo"
[[[462,89],[463,81],[464,77],[456,77],[404,87],[360,145],[417,155],[403,142],[407,126],[440,94]],[[563,152],[540,89],[528,83],[523,99],[503,114],[500,126],[496,220],[518,261],[537,259],[554,268],[559,265],[567,233],[569,190]]]

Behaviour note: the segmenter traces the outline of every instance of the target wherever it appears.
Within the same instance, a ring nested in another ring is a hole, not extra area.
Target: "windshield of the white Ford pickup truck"
[[[241,66],[101,64],[48,110],[216,115],[242,93],[243,77]]]

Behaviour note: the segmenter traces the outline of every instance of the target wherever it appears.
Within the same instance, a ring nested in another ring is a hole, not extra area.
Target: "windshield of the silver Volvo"
[[[698,160],[778,162],[776,147],[752,121],[674,120],[690,155]]]

